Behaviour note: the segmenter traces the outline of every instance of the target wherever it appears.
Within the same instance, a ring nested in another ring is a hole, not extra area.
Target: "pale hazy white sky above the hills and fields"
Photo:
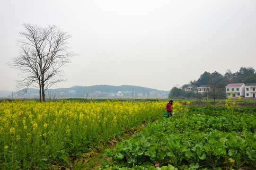
[[[3,0],[0,16],[1,90],[16,90],[19,71],[6,63],[23,23],[71,34],[78,56],[58,87],[170,90],[204,71],[256,69],[256,0]]]

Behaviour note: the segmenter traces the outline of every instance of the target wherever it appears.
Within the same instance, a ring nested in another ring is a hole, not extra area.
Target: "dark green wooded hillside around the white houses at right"
[[[256,83],[256,71],[252,67],[241,67],[237,72],[232,73],[230,69],[226,71],[224,75],[221,75],[217,71],[210,73],[205,71],[198,80],[190,81],[189,84],[182,87],[173,87],[168,97],[169,98],[197,98],[201,100],[203,98],[209,99],[225,99],[225,86],[230,83]],[[194,93],[193,91],[185,91],[185,88],[189,85],[205,85],[210,88],[206,93]]]

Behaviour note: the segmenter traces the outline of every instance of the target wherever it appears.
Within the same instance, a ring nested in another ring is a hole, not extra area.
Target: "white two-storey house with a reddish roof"
[[[228,97],[231,96],[233,92],[233,97],[245,97],[245,84],[244,83],[232,83],[226,86],[226,94]]]

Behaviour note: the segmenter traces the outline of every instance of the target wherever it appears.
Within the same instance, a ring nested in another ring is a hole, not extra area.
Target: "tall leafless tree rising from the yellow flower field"
[[[19,69],[21,80],[18,89],[28,89],[34,85],[39,89],[40,102],[45,102],[45,91],[52,85],[65,81],[62,79],[61,68],[71,62],[76,56],[68,51],[67,40],[71,35],[63,32],[58,26],[23,24],[24,32],[20,32],[18,40],[20,54],[7,63],[10,67]]]

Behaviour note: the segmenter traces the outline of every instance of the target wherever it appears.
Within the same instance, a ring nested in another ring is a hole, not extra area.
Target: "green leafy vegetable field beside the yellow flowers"
[[[253,170],[256,107],[184,108],[105,151],[102,170]]]

